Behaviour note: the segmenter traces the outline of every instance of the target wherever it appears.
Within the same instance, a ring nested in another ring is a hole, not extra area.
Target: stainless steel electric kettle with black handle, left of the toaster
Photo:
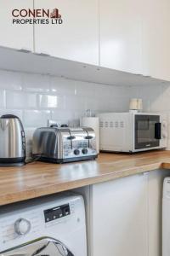
[[[22,166],[26,160],[26,137],[20,119],[12,114],[0,118],[0,166]]]

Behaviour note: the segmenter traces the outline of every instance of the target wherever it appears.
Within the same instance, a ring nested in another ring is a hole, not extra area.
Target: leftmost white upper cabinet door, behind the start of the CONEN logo
[[[33,0],[4,0],[0,2],[0,46],[33,50],[33,25],[13,24],[14,17],[12,16],[13,9],[32,8]]]

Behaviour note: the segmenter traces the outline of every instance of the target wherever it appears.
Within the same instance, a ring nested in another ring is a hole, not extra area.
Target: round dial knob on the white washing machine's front
[[[25,218],[19,218],[14,223],[14,230],[18,235],[26,235],[31,230],[31,223]]]

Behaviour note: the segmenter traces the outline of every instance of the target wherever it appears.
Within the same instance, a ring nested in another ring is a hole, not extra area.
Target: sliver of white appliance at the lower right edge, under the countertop
[[[170,255],[170,177],[163,183],[162,202],[162,256]]]

